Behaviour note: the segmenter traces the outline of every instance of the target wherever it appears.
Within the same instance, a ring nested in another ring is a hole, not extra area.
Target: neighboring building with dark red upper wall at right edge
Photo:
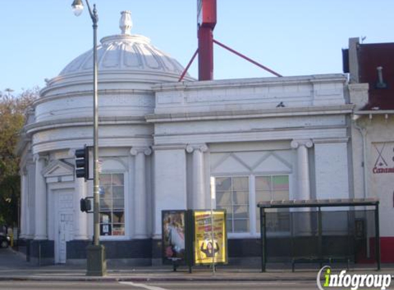
[[[350,38],[343,56],[355,104],[351,133],[354,195],[380,200],[382,261],[393,263],[394,43],[362,44]]]

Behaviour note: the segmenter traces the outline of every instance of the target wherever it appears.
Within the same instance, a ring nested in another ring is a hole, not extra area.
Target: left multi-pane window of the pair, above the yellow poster
[[[249,178],[217,177],[216,208],[227,212],[228,232],[249,232]]]

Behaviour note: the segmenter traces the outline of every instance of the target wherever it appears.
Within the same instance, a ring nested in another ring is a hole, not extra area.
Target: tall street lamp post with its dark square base
[[[98,88],[97,88],[97,23],[98,14],[96,4],[93,11],[90,8],[89,1],[85,0],[91,21],[93,22],[93,244],[87,247],[87,276],[105,276],[107,274],[107,263],[105,260],[105,247],[100,245],[100,221],[99,221],[99,188],[100,181],[98,179]],[[83,11],[83,1],[74,0],[72,9],[76,16]]]

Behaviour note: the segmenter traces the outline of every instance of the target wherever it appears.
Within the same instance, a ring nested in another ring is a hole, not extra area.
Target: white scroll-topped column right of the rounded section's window
[[[148,236],[145,155],[151,155],[151,153],[152,150],[149,147],[133,147],[130,150],[130,154],[135,156],[134,238],[146,238]]]

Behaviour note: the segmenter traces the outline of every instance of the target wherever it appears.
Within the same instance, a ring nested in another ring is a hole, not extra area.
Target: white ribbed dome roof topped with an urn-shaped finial
[[[184,68],[175,58],[151,44],[149,38],[131,35],[131,13],[121,12],[122,34],[107,36],[98,45],[98,74],[133,73],[166,75],[178,78]],[[81,54],[69,63],[56,79],[75,74],[91,74],[93,69],[93,49]],[[160,80],[160,78],[158,79]],[[190,78],[189,78],[190,80]]]

